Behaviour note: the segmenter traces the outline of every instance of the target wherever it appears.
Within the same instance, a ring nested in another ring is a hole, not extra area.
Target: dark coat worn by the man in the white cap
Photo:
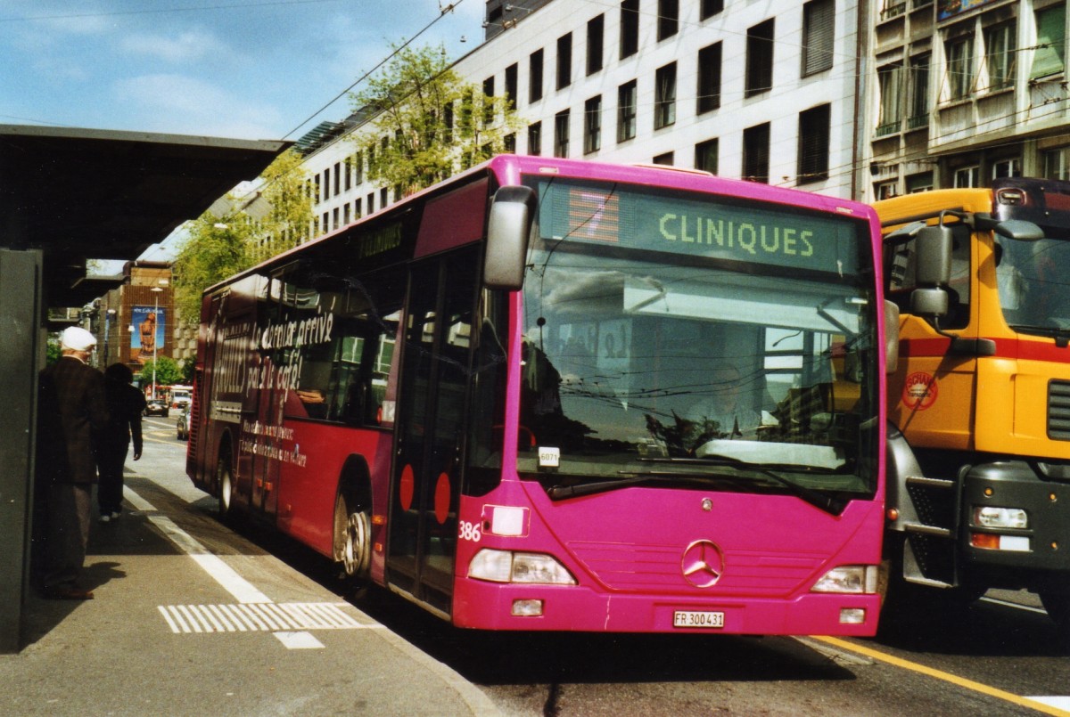
[[[37,378],[39,480],[92,483],[95,441],[108,422],[104,374],[63,356]]]

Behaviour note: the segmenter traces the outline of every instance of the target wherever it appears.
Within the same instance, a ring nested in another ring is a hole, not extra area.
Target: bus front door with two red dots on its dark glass
[[[448,614],[478,255],[414,266],[391,485],[387,580]]]

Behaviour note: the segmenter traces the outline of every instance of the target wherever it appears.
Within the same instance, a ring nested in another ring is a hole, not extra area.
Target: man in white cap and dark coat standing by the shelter
[[[72,326],[60,336],[60,359],[39,375],[36,482],[44,529],[35,567],[45,597],[91,599],[78,584],[89,542],[96,480],[95,436],[108,420],[104,374],[88,364],[96,338]]]

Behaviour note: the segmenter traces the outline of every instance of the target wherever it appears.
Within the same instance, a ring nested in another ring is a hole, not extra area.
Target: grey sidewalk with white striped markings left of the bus
[[[498,714],[203,511],[137,476],[127,487],[123,517],[90,537],[95,599],[29,598],[22,651],[0,656],[0,715]]]

